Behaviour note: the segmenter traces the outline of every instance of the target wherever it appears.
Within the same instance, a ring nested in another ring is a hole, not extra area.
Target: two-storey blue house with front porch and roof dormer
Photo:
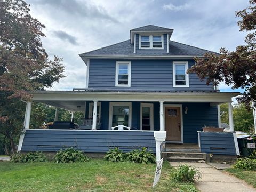
[[[155,151],[157,131],[165,132],[166,143],[198,145],[202,127],[221,127],[219,104],[225,102],[233,132],[231,98],[239,93],[220,92],[196,74],[187,74],[195,57],[213,52],[174,42],[172,33],[173,29],[153,25],[139,27],[130,30],[127,41],[79,54],[87,66],[84,87],[32,92],[34,102],[57,108],[55,122],[50,129],[30,130],[31,102],[27,102],[19,150],[77,147],[106,152],[113,147],[148,147]],[[74,111],[83,111],[84,120],[79,127],[59,122],[58,108],[69,110],[73,118]],[[118,125],[130,131],[112,130]]]

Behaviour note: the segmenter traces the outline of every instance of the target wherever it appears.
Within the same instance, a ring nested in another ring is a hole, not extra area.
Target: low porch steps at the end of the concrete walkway
[[[198,152],[163,152],[162,157],[167,159],[169,162],[198,162],[200,160],[204,160],[205,162],[210,161],[209,154]]]

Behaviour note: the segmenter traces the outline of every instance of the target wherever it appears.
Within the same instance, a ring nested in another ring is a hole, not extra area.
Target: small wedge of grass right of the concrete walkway
[[[225,171],[228,171],[230,174],[234,175],[239,179],[244,180],[245,182],[249,183],[250,185],[256,188],[256,171],[245,171],[242,169],[235,168],[226,169]]]

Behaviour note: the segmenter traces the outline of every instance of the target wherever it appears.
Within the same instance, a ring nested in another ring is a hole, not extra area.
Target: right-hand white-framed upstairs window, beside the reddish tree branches
[[[187,74],[187,61],[173,61],[173,86],[189,87],[189,75]]]

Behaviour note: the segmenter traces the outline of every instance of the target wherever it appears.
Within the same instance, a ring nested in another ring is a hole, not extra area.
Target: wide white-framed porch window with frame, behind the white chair
[[[109,129],[117,125],[131,127],[132,103],[110,102],[109,103]]]

